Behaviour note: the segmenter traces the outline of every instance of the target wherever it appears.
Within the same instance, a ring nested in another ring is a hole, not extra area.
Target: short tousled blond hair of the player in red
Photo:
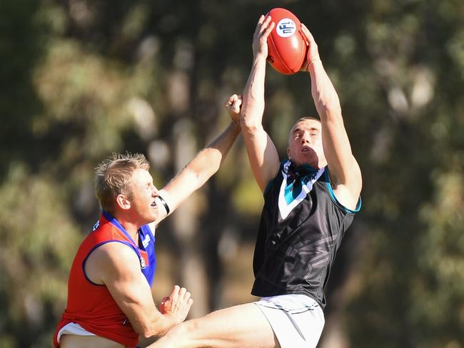
[[[140,153],[112,153],[95,168],[95,193],[101,208],[114,213],[116,196],[132,197],[131,179],[137,169],[150,169],[148,160]]]

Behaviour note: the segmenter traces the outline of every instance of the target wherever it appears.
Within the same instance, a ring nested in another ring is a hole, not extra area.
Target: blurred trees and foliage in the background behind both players
[[[95,165],[141,152],[158,187],[170,180],[228,123],[258,16],[276,6],[318,41],[363,170],[319,347],[464,347],[462,0],[0,1],[0,347],[51,346],[99,217]],[[281,155],[314,112],[306,74],[268,67]],[[253,300],[262,204],[238,140],[160,225],[154,297],[185,285],[191,317]]]

